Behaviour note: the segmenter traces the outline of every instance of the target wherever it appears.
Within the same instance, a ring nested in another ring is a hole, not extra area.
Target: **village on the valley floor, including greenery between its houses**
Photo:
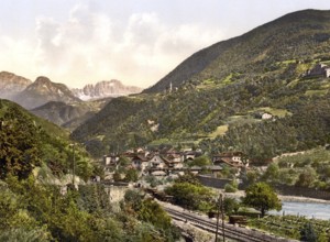
[[[147,151],[136,148],[134,151],[127,151],[121,155],[112,154],[103,156],[101,164],[105,169],[106,180],[124,178],[118,178],[114,175],[123,160],[125,161],[125,168],[135,170],[139,177],[175,178],[187,172],[196,175],[207,174],[211,177],[218,177],[219,173],[223,172],[223,169],[230,169],[230,177],[228,178],[238,178],[243,170],[250,168],[249,158],[242,152],[223,152],[209,158],[201,150],[176,151],[169,148]]]

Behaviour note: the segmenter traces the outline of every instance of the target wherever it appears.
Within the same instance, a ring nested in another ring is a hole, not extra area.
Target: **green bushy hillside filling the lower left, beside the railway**
[[[74,157],[67,133],[0,99],[0,241],[177,241],[179,231],[162,207],[128,193],[113,210],[100,184],[72,179]],[[75,145],[76,174],[98,174]],[[67,193],[61,193],[61,187]],[[155,216],[150,216],[155,215]]]

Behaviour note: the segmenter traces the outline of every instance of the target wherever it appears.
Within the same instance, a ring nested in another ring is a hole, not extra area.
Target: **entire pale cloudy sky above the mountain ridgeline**
[[[195,52],[329,0],[0,0],[0,72],[150,87]]]

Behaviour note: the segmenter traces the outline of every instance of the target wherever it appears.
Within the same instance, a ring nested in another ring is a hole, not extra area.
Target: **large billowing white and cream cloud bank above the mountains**
[[[24,70],[29,75],[44,75],[72,87],[112,78],[148,87],[221,37],[219,30],[206,25],[168,24],[155,12],[133,13],[122,21],[77,4],[65,20],[36,18],[36,40],[2,37],[0,44],[16,50],[9,53],[13,65],[29,62]]]

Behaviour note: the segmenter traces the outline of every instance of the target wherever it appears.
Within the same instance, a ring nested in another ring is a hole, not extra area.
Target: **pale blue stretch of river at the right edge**
[[[330,220],[330,204],[284,201],[280,211],[272,210],[270,213],[283,215],[283,211],[285,215],[299,215],[306,218]]]

